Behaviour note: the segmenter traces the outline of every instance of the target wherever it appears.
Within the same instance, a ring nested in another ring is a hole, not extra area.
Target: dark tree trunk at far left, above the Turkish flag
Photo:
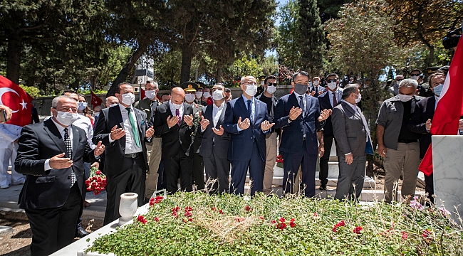
[[[21,36],[11,33],[6,50],[6,78],[19,84],[19,68],[21,64]]]

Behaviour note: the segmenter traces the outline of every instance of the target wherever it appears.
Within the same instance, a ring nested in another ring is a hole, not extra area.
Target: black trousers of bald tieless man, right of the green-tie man
[[[182,191],[193,191],[192,156],[182,154],[182,156],[165,157],[162,160],[164,161],[167,192],[175,193],[178,191],[177,181],[179,177]]]

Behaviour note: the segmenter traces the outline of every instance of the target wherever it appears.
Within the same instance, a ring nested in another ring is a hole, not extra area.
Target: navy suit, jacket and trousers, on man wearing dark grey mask
[[[306,96],[305,117],[300,114],[298,118],[289,122],[289,110],[299,107],[296,95],[291,93],[280,98],[276,104],[274,128],[283,128],[281,134],[280,152],[283,155],[283,188],[286,193],[293,193],[294,178],[301,166],[303,183],[306,184],[306,196],[315,196],[315,171],[318,154],[317,131],[320,124],[320,108],[316,97]],[[305,138],[304,138],[305,134]]]

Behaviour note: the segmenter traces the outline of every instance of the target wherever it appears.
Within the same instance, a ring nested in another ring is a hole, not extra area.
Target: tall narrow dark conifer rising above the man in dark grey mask
[[[316,0],[298,0],[299,38],[301,69],[313,74],[323,65],[325,33],[318,14]]]

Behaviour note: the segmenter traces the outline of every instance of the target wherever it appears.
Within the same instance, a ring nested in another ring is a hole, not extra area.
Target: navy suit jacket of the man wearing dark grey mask
[[[318,122],[320,107],[318,99],[306,95],[306,116],[302,114],[292,122],[289,122],[289,110],[292,107],[299,107],[298,99],[293,93],[280,98],[276,104],[274,128],[283,128],[281,134],[280,151],[288,153],[301,153],[303,149],[303,136],[306,134],[306,150],[308,154],[318,154],[317,131],[320,130],[325,122]]]

